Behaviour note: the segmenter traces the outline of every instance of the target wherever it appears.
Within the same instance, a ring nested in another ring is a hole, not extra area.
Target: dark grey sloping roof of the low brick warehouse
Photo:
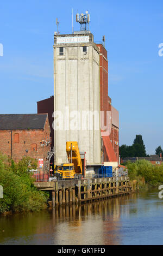
[[[48,114],[0,115],[0,130],[43,129]]]

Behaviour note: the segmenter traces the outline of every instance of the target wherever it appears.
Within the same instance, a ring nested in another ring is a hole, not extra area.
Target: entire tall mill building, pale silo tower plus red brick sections
[[[118,162],[119,116],[108,96],[108,57],[104,45],[95,44],[89,31],[80,31],[54,35],[53,48],[54,98],[37,102],[37,112],[48,113],[55,164],[67,162],[66,141],[78,141],[80,152],[85,152],[87,169],[103,162]],[[101,113],[104,112],[107,126],[107,111],[109,134],[103,136]],[[91,118],[93,127],[89,129]],[[85,121],[88,126],[83,130]]]

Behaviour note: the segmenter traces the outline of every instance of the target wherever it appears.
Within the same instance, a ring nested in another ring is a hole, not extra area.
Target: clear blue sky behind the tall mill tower
[[[36,102],[53,95],[53,34],[71,33],[71,13],[89,10],[95,41],[105,35],[109,96],[120,112],[120,145],[141,134],[147,153],[162,141],[163,2],[1,1],[0,113],[35,113]],[[74,30],[79,26],[74,17]]]

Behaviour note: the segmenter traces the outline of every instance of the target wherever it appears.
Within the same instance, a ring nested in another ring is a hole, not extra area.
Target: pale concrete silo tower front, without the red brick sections
[[[82,31],[54,35],[53,48],[56,164],[67,162],[66,141],[78,141],[87,165],[100,164],[99,49],[93,35]]]

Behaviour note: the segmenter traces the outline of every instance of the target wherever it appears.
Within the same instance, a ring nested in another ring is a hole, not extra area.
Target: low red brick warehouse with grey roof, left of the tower
[[[24,156],[45,161],[50,133],[48,114],[0,115],[0,152],[15,162]]]

